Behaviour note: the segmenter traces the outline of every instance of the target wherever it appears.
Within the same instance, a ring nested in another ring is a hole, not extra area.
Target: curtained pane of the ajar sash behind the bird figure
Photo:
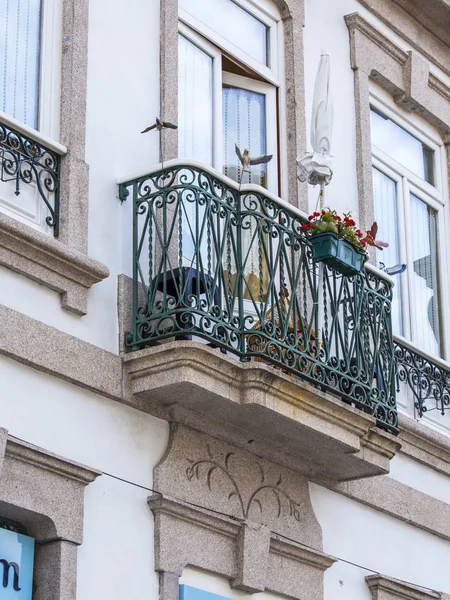
[[[240,88],[223,88],[224,173],[239,181],[241,163],[234,145],[250,156],[266,153],[266,108],[264,94]],[[243,174],[242,183],[267,186],[267,165],[254,165],[251,173]]]

